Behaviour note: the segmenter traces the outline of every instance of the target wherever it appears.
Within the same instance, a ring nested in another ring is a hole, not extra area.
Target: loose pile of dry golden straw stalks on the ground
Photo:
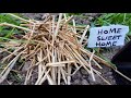
[[[4,57],[2,62],[9,61],[9,63],[0,72],[0,83],[7,78],[16,61],[21,59],[31,62],[29,68],[26,69],[25,85],[29,84],[34,71],[37,71],[37,79],[34,85],[41,85],[45,81],[49,85],[60,85],[61,82],[70,85],[72,75],[81,68],[92,75],[93,81],[95,81],[94,74],[97,74],[110,85],[95,68],[103,69],[100,64],[112,66],[95,56],[95,51],[91,52],[84,49],[87,45],[86,33],[90,25],[85,28],[75,26],[73,16],[67,17],[64,13],[59,14],[57,22],[53,15],[48,15],[44,21],[35,21],[25,20],[11,13],[8,14],[19,19],[24,24],[16,26],[1,23],[0,26],[16,27],[25,34],[20,40],[16,39],[17,41],[4,42],[5,47],[1,52],[7,51],[9,56]],[[69,25],[69,22],[72,22],[73,25]],[[14,51],[8,51],[9,48],[14,49]],[[112,69],[118,72],[117,68]],[[127,76],[124,77],[130,81]]]

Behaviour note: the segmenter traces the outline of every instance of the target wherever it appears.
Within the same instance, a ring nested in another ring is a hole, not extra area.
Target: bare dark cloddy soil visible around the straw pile
[[[29,19],[34,19],[34,20],[44,20],[44,17],[46,15],[48,15],[49,13],[22,13],[22,15],[27,16]],[[51,13],[55,14],[56,16],[58,15],[57,13]],[[95,19],[97,19],[97,16],[99,16],[103,13],[82,13],[82,15],[84,17],[80,17],[80,16],[74,16],[74,20],[76,22],[76,24],[91,24]],[[108,52],[103,52],[103,56],[105,56],[107,59],[111,60],[111,58],[121,49],[121,47],[116,47],[116,48],[108,48]],[[24,66],[24,69],[26,69],[27,64]],[[107,68],[105,65],[102,66],[102,70],[98,70],[99,72],[102,72],[102,76],[104,76],[111,85],[117,85],[116,84],[116,79],[112,75],[112,71],[110,68]],[[12,73],[13,74],[13,73]],[[22,74],[20,72],[20,74]],[[10,74],[10,76],[8,77],[7,81],[4,81],[2,83],[2,85],[23,85],[23,81],[25,78],[24,75],[20,75],[20,79],[21,82],[16,82],[15,77],[11,77],[12,75]],[[71,81],[71,85],[107,85],[99,76],[95,75],[96,77],[96,82],[93,82],[92,77],[88,75],[88,73],[84,70],[81,69],[80,71],[76,72],[76,74],[74,74],[72,76],[72,81]],[[36,78],[36,74],[34,74],[34,79]],[[61,84],[62,85],[62,84]]]

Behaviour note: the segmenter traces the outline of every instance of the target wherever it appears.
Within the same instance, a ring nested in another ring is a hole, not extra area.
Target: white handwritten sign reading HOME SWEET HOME
[[[112,47],[123,46],[126,34],[129,26],[110,25],[102,27],[92,27],[90,29],[90,38],[87,47]]]

